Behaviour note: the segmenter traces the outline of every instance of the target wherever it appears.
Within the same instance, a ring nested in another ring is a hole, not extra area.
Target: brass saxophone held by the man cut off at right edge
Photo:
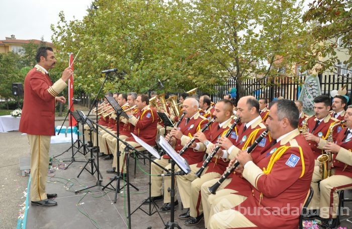
[[[342,125],[343,123],[344,121],[338,121],[329,127],[329,133],[326,137],[327,142],[333,142],[333,128],[335,128],[335,126]],[[332,153],[327,150],[325,150],[325,152],[326,154],[322,154],[317,158],[317,161],[319,162],[319,173],[321,173],[322,180],[331,176]]]

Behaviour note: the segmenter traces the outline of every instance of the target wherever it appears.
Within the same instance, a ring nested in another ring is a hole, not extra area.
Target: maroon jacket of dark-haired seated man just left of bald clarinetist
[[[145,143],[149,145],[155,145],[155,137],[157,132],[157,118],[156,109],[152,107],[147,107],[146,109],[138,110],[135,115],[128,120],[128,122],[134,124],[133,133],[141,138]],[[126,141],[135,141],[134,137],[126,138]]]

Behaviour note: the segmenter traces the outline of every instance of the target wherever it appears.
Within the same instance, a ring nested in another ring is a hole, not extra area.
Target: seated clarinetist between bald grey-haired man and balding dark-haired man
[[[217,139],[224,136],[229,127],[233,123],[232,116],[232,103],[229,100],[220,100],[215,104],[215,111],[213,117],[215,122],[210,126],[210,130],[202,132],[197,132],[194,137],[198,139],[199,143],[193,143],[190,147],[194,148],[195,151],[205,151],[210,154],[210,148],[213,144],[217,142]],[[237,128],[232,130],[229,138],[234,143],[237,135]],[[179,183],[179,191],[182,199],[182,203],[185,208],[189,208],[189,211],[179,215],[179,218],[187,219],[185,221],[186,225],[195,225],[203,218],[203,207],[200,189],[201,185],[209,180],[219,177],[223,171],[225,171],[228,162],[226,159],[213,158],[208,166],[204,169],[203,174],[200,178],[197,178],[195,173],[203,165],[203,162],[198,164],[191,164],[191,173],[185,176],[177,176],[177,182]]]

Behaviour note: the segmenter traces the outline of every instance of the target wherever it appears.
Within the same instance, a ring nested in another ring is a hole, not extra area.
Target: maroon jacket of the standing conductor
[[[61,79],[53,85],[39,65],[32,68],[25,78],[19,130],[32,135],[55,135],[55,97],[66,87]]]

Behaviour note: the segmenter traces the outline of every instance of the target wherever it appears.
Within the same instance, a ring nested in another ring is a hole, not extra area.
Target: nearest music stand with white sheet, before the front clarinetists
[[[172,146],[167,142],[167,140],[160,136],[159,141],[158,141],[160,147],[166,152],[168,156],[170,156],[171,160],[171,173],[166,174],[165,176],[170,175],[171,176],[171,187],[170,187],[170,195],[171,195],[171,212],[170,212],[170,221],[165,224],[164,229],[166,228],[180,228],[179,224],[174,221],[174,195],[175,195],[175,190],[174,190],[174,178],[175,178],[175,165],[178,165],[179,168],[182,171],[182,175],[186,175],[191,172],[191,168],[188,165],[188,162],[182,158],[173,148]],[[165,187],[164,187],[165,188]]]

